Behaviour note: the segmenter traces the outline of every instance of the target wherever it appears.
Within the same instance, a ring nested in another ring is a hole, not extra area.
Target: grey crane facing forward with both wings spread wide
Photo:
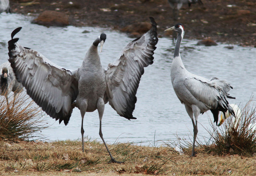
[[[19,82],[27,89],[28,95],[50,117],[64,121],[67,125],[74,107],[80,110],[82,123],[82,150],[84,151],[83,121],[85,112],[96,109],[99,113],[99,135],[108,150],[111,162],[116,161],[104,141],[101,131],[101,120],[107,102],[117,114],[126,119],[136,119],[132,112],[137,101],[136,92],[139,87],[144,67],[153,63],[153,54],[158,42],[156,22],[150,17],[152,27],[140,38],[128,43],[113,64],[103,69],[98,54],[106,41],[106,34],[100,34],[87,50],[81,67],[76,70],[62,68],[41,53],[22,47],[13,38],[21,27],[15,29],[8,42],[9,62]],[[112,118],[112,117],[109,117]]]

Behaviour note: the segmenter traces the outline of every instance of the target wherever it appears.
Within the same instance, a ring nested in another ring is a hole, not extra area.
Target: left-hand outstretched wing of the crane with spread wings
[[[9,62],[16,79],[27,89],[28,95],[53,119],[64,121],[71,116],[71,104],[78,95],[78,81],[71,71],[55,65],[41,53],[22,47],[13,36],[8,42]]]

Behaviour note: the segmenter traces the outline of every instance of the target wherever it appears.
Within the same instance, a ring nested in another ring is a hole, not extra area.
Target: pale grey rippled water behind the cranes
[[[30,24],[31,17],[17,14],[0,15],[0,63],[8,59],[7,42],[16,27],[23,27],[16,35],[22,46],[33,48],[57,65],[68,69],[80,67],[84,55],[91,43],[100,33],[107,34],[107,40],[100,53],[103,67],[113,63],[121,49],[133,39],[126,34],[104,28],[94,27],[44,27]],[[157,22],[157,21],[156,21]],[[173,24],[166,24],[166,26]],[[89,33],[83,34],[84,30]],[[186,30],[186,29],[185,29]],[[180,55],[188,71],[210,79],[216,76],[228,80],[234,87],[230,91],[236,100],[229,103],[245,104],[255,94],[255,57],[256,49],[234,46],[233,50],[224,48],[223,44],[212,47],[197,46],[197,41],[182,41]],[[102,120],[102,132],[108,143],[135,142],[139,145],[157,145],[162,141],[193,138],[191,119],[176,97],[170,79],[174,46],[172,40],[159,38],[155,50],[154,64],[149,65],[142,75],[137,91],[137,103],[133,116],[137,120],[127,120],[117,115],[109,104],[105,106]],[[52,126],[44,129],[42,134],[49,140],[65,140],[81,138],[81,116],[76,108],[68,126],[59,125],[54,119],[46,118]],[[84,135],[100,140],[98,112],[85,114]],[[198,138],[210,137],[205,128],[211,128],[213,121],[211,112],[199,116]]]

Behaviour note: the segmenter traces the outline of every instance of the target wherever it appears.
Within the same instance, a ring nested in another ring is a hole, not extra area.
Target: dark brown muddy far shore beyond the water
[[[70,3],[72,2],[72,3]],[[164,29],[180,22],[185,27],[185,38],[212,39],[217,42],[256,47],[255,0],[202,0],[203,5],[183,4],[179,19],[167,0],[10,0],[13,13],[39,14],[57,10],[69,16],[74,26],[110,27],[121,30],[135,22],[158,24],[159,37]]]

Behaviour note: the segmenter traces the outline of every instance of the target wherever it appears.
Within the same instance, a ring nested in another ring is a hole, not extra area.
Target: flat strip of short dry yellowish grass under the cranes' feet
[[[255,175],[256,158],[238,155],[196,157],[169,147],[132,143],[109,145],[117,160],[108,163],[105,146],[96,141],[0,142],[0,175]]]

